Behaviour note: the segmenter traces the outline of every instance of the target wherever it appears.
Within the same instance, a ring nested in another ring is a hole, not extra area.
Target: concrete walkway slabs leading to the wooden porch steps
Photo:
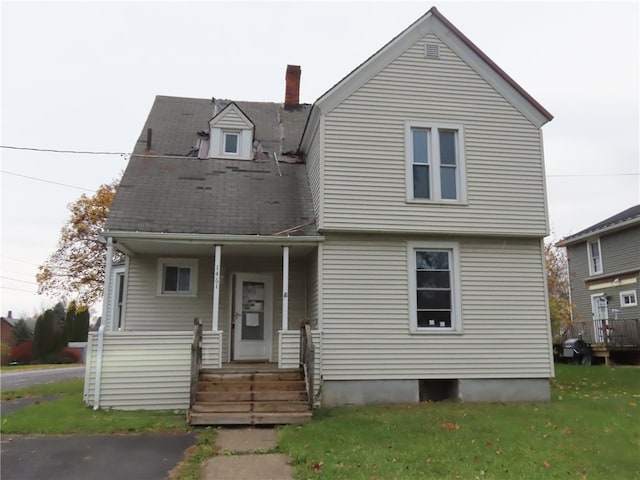
[[[292,480],[289,457],[273,451],[275,429],[221,429],[216,438],[218,455],[202,466],[201,480]]]

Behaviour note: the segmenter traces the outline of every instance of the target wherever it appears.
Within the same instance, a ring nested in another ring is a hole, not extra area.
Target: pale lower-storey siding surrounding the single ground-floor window
[[[452,241],[433,236],[424,240]],[[323,378],[552,376],[540,243],[459,240],[464,333],[414,335],[407,241],[374,235],[326,237]]]

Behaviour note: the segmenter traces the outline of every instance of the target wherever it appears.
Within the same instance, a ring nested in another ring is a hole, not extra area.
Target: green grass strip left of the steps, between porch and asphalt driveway
[[[6,434],[97,434],[188,432],[183,411],[97,410],[82,400],[83,380],[36,385],[3,392],[3,400],[60,395],[2,416],[0,432]]]

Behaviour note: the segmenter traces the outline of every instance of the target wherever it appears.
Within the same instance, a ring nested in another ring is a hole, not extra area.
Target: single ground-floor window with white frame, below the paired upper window
[[[409,244],[409,302],[413,332],[462,328],[457,243]]]

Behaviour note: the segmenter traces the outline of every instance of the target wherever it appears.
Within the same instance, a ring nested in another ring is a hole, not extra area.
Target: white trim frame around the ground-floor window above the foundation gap
[[[451,252],[451,328],[420,328],[417,314],[416,251],[449,250]],[[460,244],[458,242],[407,242],[409,276],[409,330],[414,334],[461,334],[462,302],[460,285]]]

